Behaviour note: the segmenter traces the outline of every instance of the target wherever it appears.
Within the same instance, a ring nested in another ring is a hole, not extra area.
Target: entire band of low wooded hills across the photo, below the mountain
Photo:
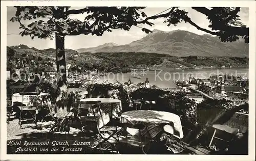
[[[98,69],[105,72],[130,72],[134,68],[201,68],[201,67],[248,67],[248,58],[238,57],[174,57],[146,52],[82,52],[65,49],[70,71]],[[29,67],[33,72],[54,71],[55,49],[39,50],[26,45],[7,46],[7,70]]]

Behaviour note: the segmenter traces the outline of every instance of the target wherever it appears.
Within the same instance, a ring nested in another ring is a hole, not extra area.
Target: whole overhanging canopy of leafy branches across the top
[[[122,29],[129,31],[132,25],[147,24],[152,26],[150,19],[159,17],[166,18],[164,20],[167,26],[177,25],[184,21],[194,25],[198,30],[207,32],[212,35],[217,35],[222,42],[236,41],[241,36],[245,42],[249,42],[249,28],[239,21],[240,7],[192,7],[194,10],[204,14],[210,22],[209,28],[212,32],[201,28],[193,22],[188,16],[188,12],[179,9],[179,7],[170,8],[165,14],[158,14],[151,17],[142,12],[145,7],[85,7],[79,10],[70,10],[70,7],[16,7],[17,11],[10,21],[18,21],[20,29],[23,29],[20,34],[30,35],[33,39],[38,38],[53,38],[53,34],[59,35],[97,35],[101,36],[105,31],[112,32],[112,29]],[[86,13],[84,21],[71,19],[71,14]],[[32,20],[36,18],[48,18],[48,21],[34,21],[29,25],[22,23],[22,20]],[[145,19],[143,19],[145,18]],[[58,27],[55,28],[55,25]],[[151,33],[150,30],[142,28],[145,33]]]

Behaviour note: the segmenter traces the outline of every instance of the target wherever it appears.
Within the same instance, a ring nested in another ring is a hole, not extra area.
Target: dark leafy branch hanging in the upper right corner
[[[167,26],[171,24],[176,26],[178,23],[184,21],[195,26],[198,30],[218,36],[222,42],[233,42],[237,41],[239,37],[242,37],[246,43],[249,43],[249,28],[239,21],[238,12],[240,12],[240,7],[211,7],[210,9],[192,7],[192,9],[204,14],[210,22],[209,28],[217,32],[201,28],[187,16],[188,12],[180,10],[178,7],[164,15],[167,18],[164,22],[168,23]]]

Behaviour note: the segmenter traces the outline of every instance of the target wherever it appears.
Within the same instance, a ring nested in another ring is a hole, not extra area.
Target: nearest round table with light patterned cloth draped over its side
[[[179,139],[183,138],[180,117],[173,113],[153,110],[127,111],[122,113],[120,122],[133,125],[144,124],[146,128],[142,129],[141,133],[142,135],[150,135],[151,138],[154,138],[162,130]]]

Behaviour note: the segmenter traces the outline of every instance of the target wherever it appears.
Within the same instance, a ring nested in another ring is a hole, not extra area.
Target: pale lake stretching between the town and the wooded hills
[[[161,88],[176,87],[173,82],[176,79],[188,80],[189,76],[196,79],[209,78],[212,75],[219,75],[225,73],[233,76],[249,77],[249,68],[227,68],[227,69],[187,69],[187,70],[154,70],[142,71],[134,70],[131,73],[108,73],[105,76],[100,76],[99,81],[108,80],[109,82],[119,81],[125,83],[131,78],[132,83],[144,82],[146,78],[150,84],[157,85]],[[141,77],[141,79],[136,77]]]

